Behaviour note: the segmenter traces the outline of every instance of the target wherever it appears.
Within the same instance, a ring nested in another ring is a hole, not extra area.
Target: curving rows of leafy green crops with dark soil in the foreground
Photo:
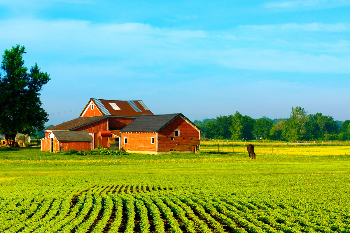
[[[152,191],[153,190],[153,191]],[[156,192],[155,192],[155,191]],[[170,191],[171,190],[171,191]],[[151,231],[234,233],[346,233],[340,214],[307,203],[247,196],[179,192],[149,184],[65,188],[4,199],[0,232],[117,233]],[[35,196],[37,195],[37,196]],[[11,202],[12,201],[12,202]],[[342,213],[343,214],[343,213]],[[313,216],[320,218],[313,218]]]

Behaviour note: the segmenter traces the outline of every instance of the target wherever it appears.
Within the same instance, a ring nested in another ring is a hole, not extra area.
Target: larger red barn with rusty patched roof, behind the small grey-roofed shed
[[[42,145],[41,150],[51,151],[50,147],[46,145],[46,138],[50,132],[56,131],[86,131],[89,133],[92,137],[92,146],[87,148],[83,144],[79,145],[75,148],[79,151],[91,150],[99,145],[109,147],[108,137],[98,137],[98,132],[111,131],[112,137],[118,138],[116,143],[118,144],[117,148],[120,148],[121,134],[119,130],[130,124],[141,114],[153,114],[143,101],[90,99],[78,118],[45,130],[45,138],[43,138],[45,140],[42,139],[44,145]],[[58,151],[58,147],[53,151]]]

